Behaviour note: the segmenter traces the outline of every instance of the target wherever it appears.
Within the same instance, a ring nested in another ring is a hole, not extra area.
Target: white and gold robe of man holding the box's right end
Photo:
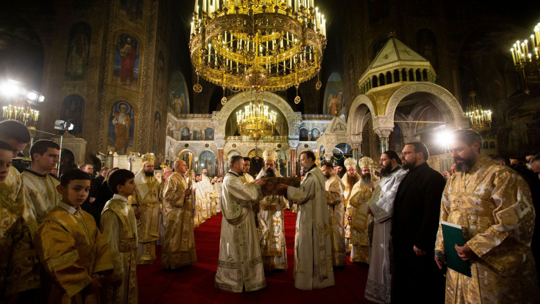
[[[334,285],[332,240],[321,169],[309,170],[300,188],[287,188],[287,198],[296,204],[294,236],[294,287],[320,289]]]

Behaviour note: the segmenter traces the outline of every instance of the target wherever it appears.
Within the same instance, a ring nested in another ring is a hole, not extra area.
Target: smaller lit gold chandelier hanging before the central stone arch
[[[273,134],[276,117],[276,112],[269,111],[268,106],[262,102],[262,94],[255,93],[255,98],[249,100],[244,111],[236,112],[238,133],[253,138],[256,145],[262,137]]]

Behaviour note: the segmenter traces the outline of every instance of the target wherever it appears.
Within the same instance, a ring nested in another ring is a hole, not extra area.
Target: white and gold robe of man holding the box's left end
[[[215,286],[230,292],[266,287],[252,206],[262,199],[258,184],[243,184],[229,171],[223,180],[222,231]]]

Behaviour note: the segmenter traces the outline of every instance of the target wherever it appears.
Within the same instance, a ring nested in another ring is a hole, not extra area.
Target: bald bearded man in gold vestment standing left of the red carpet
[[[135,175],[135,194],[129,198],[139,216],[137,225],[139,264],[156,260],[156,240],[159,238],[159,180],[154,176],[154,155],[143,155],[143,168]]]

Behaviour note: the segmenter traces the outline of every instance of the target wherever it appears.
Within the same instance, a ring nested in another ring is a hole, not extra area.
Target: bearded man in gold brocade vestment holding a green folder
[[[472,277],[447,270],[446,303],[540,303],[530,242],[534,207],[526,182],[508,167],[480,155],[482,137],[456,130],[449,151],[458,173],[442,193],[440,221],[461,225],[465,245],[458,256]],[[435,262],[444,263],[439,227]]]

